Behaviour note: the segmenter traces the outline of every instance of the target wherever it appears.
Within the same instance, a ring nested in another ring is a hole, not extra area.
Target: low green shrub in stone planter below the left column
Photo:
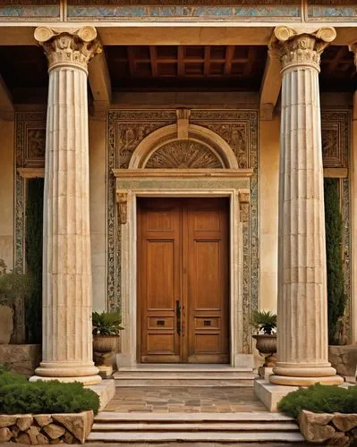
[[[98,394],[79,382],[28,382],[21,375],[0,370],[0,414],[80,413],[88,409],[98,413]]]

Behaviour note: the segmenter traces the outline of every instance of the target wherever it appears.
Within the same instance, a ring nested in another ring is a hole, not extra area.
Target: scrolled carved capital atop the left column
[[[92,57],[102,52],[97,30],[85,26],[79,30],[52,30],[38,27],[35,38],[48,59],[48,72],[58,67],[75,67],[88,73]]]

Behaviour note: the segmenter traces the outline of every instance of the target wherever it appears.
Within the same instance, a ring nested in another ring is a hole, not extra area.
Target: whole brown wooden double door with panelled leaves
[[[228,230],[225,198],[139,200],[140,362],[229,362]]]

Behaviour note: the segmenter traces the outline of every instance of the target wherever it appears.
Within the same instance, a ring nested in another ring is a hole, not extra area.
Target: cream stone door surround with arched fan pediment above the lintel
[[[229,198],[230,360],[252,367],[243,349],[243,228],[249,227],[252,169],[239,169],[234,151],[214,131],[178,114],[177,124],[153,131],[132,154],[129,169],[114,169],[118,222],[121,224],[122,352],[120,366],[135,366],[137,326],[137,199]],[[248,229],[249,231],[249,229]],[[245,323],[244,323],[245,324]],[[247,328],[245,328],[247,330]],[[246,352],[246,351],[245,351]]]

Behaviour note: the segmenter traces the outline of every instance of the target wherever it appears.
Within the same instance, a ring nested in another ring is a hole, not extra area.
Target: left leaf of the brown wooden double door
[[[175,302],[181,291],[181,209],[177,203],[140,203],[139,275],[142,362],[179,362]]]

